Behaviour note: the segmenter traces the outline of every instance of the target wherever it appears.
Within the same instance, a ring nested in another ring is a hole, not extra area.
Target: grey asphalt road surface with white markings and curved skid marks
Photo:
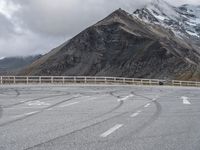
[[[0,150],[199,150],[200,89],[0,86]]]

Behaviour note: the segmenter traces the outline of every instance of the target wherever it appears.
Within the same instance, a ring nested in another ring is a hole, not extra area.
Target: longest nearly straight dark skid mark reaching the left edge
[[[35,112],[35,113],[33,113],[33,114],[25,115],[24,117],[20,117],[20,118],[17,118],[17,119],[14,119],[14,120],[11,120],[11,121],[2,123],[2,124],[0,124],[0,127],[3,127],[3,126],[6,126],[6,125],[15,123],[15,122],[17,122],[17,121],[24,120],[24,119],[29,118],[29,117],[32,117],[32,116],[35,116],[35,115],[37,115],[37,114],[39,114],[39,113],[44,112],[44,111],[47,110],[47,109],[53,108],[53,107],[58,106],[58,105],[60,105],[60,104],[62,104],[62,103],[68,102],[68,101],[70,101],[70,100],[73,100],[73,99],[76,99],[76,98],[79,98],[79,97],[81,97],[81,96],[71,97],[71,98],[69,98],[69,99],[67,99],[67,100],[60,101],[60,102],[58,102],[58,103],[56,103],[56,104],[54,104],[54,105],[51,105],[51,106],[49,106],[49,107],[45,107],[45,108],[41,109],[40,111],[37,111],[37,112]]]

